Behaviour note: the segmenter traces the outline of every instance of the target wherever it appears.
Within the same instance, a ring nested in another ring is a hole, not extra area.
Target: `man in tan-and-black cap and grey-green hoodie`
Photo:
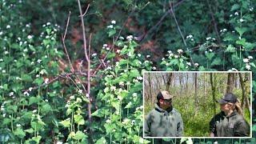
[[[182,137],[182,116],[172,106],[173,97],[166,90],[158,93],[158,102],[144,122],[144,137]]]

